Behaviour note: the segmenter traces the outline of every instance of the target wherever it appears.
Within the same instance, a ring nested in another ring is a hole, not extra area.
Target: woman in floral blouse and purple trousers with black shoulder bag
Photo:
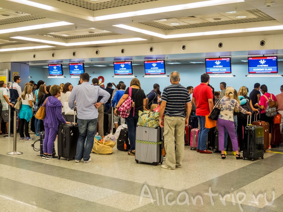
[[[238,141],[236,139],[236,133],[235,133],[235,125],[234,125],[234,119],[233,119],[233,111],[236,107],[240,112],[248,115],[252,115],[251,112],[246,111],[243,109],[237,100],[233,99],[234,96],[234,88],[233,87],[227,87],[225,96],[220,100],[219,102],[219,109],[220,114],[217,119],[217,127],[218,127],[218,133],[219,133],[219,150],[221,150],[221,157],[222,159],[225,159],[225,153],[224,153],[224,132],[225,129],[227,129],[230,139],[232,141],[233,151],[236,151],[236,159],[243,159],[239,153],[238,149]]]

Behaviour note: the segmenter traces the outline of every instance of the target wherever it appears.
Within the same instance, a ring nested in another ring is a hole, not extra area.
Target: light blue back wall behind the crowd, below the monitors
[[[163,91],[164,87],[170,84],[169,77],[168,78],[144,78],[144,67],[143,66],[134,66],[133,67],[134,75],[141,82],[142,89],[145,93],[149,93],[150,90],[153,89],[153,84],[158,83],[160,85],[160,90]],[[166,73],[169,75],[172,71],[178,71],[180,73],[180,84],[183,86],[197,86],[200,84],[200,75],[204,73],[205,65],[197,64],[197,65],[169,65],[166,66]],[[278,74],[283,74],[283,63],[278,63]],[[104,84],[108,82],[114,82],[118,84],[118,82],[124,81],[127,86],[130,85],[130,81],[132,78],[113,78],[114,70],[113,67],[97,67],[97,68],[87,68],[86,72],[89,73],[91,79],[99,76],[104,77]],[[215,90],[219,89],[220,82],[226,82],[227,86],[233,86],[236,90],[243,85],[249,88],[249,91],[253,89],[254,83],[266,84],[268,88],[268,92],[273,94],[280,93],[280,85],[283,84],[283,77],[246,77],[248,74],[247,63],[237,63],[232,64],[232,74],[236,75],[236,77],[215,77],[210,79],[210,84],[214,87]],[[47,78],[48,68],[30,68],[30,76],[32,76],[31,80],[37,82],[38,80],[44,80],[46,84],[60,84],[70,82],[73,86],[78,84],[79,78],[70,78],[69,68],[64,68],[64,76],[66,78]]]

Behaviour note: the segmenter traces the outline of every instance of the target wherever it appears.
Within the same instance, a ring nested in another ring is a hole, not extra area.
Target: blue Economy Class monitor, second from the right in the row
[[[231,58],[205,58],[206,73],[231,73]]]

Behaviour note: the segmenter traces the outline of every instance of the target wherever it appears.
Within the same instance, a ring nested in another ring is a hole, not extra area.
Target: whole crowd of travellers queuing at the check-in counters
[[[4,81],[0,81],[0,100],[3,105],[1,119],[8,125],[8,105],[13,107],[17,101],[21,100],[22,107],[17,111],[20,120],[20,140],[32,140],[29,123],[38,108],[46,101],[47,115],[44,120],[35,119],[35,136],[39,136],[40,131],[45,131],[43,157],[56,159],[58,157],[52,155],[52,148],[58,133],[58,125],[60,123],[75,122],[73,115],[65,114],[65,108],[76,109],[80,133],[75,162],[83,160],[87,163],[91,161],[90,153],[94,135],[97,132],[97,124],[99,127],[98,131],[102,129],[99,135],[103,136],[107,133],[103,132],[103,119],[99,118],[100,113],[103,114],[106,110],[110,110],[111,107],[114,108],[115,129],[118,128],[119,124],[127,124],[130,141],[128,155],[135,155],[136,125],[139,111],[159,111],[159,124],[160,127],[164,128],[164,146],[167,153],[166,164],[162,165],[162,167],[175,169],[182,165],[184,152],[183,128],[188,124],[189,117],[192,114],[197,116],[199,124],[197,152],[201,154],[212,153],[206,149],[209,129],[205,127],[205,116],[212,111],[218,101],[220,114],[217,128],[219,132],[219,150],[221,151],[222,159],[226,158],[225,149],[228,134],[232,141],[233,154],[236,156],[236,159],[242,159],[240,155],[244,146],[242,129],[246,125],[246,119],[242,119],[239,115],[240,113],[247,115],[252,115],[252,112],[253,114],[260,113],[260,119],[269,122],[271,128],[273,120],[272,117],[266,115],[265,110],[268,106],[268,101],[272,99],[276,102],[278,113],[283,115],[283,85],[280,87],[281,93],[275,96],[267,92],[266,85],[260,86],[260,84],[255,83],[254,89],[248,96],[246,86],[241,86],[237,92],[233,87],[227,87],[225,82],[220,83],[221,92],[214,91],[214,88],[209,84],[209,75],[206,73],[201,75],[201,83],[195,88],[193,86],[183,87],[179,83],[180,74],[172,72],[169,75],[171,85],[165,87],[163,93],[160,91],[159,84],[156,83],[153,85],[153,90],[146,95],[137,78],[131,80],[130,87],[128,88],[123,81],[120,81],[117,86],[114,83],[108,83],[106,89],[103,88],[103,83],[97,78],[93,78],[92,84],[90,84],[89,78],[88,73],[81,74],[79,84],[75,87],[69,82],[60,84],[60,86],[46,86],[43,80],[39,80],[37,84],[31,81],[25,85],[23,92],[19,86],[21,82],[19,76],[14,77],[13,84],[9,83],[9,89],[6,88],[7,85]],[[112,89],[112,85],[115,86],[115,89]],[[36,89],[34,89],[35,87]],[[124,119],[119,116],[118,109],[128,98],[130,88],[135,107],[131,108],[129,117]],[[259,91],[262,95],[260,95]],[[248,106],[249,110],[246,107],[244,109],[242,107],[243,104]],[[41,122],[44,126],[43,129],[40,127]],[[281,133],[282,123],[281,116]],[[8,127],[6,126],[6,128]],[[271,129],[269,132],[271,132]],[[0,131],[0,134],[5,133]],[[175,142],[172,143],[172,141]]]

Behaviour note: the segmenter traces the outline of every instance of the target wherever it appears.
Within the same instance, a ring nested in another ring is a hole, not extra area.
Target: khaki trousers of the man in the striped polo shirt
[[[181,167],[185,140],[185,118],[179,116],[164,116],[164,146],[166,151],[166,165],[170,169]],[[175,150],[176,141],[176,150]]]

